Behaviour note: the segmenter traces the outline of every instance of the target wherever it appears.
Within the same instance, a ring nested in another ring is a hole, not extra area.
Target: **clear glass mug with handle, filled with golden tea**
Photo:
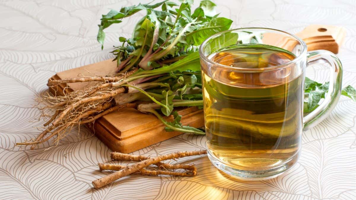
[[[217,33],[200,46],[206,146],[211,162],[247,180],[277,177],[298,160],[302,133],[334,109],[342,66],[335,54],[307,52],[300,38],[269,28]],[[305,69],[329,63],[324,101],[304,114]]]

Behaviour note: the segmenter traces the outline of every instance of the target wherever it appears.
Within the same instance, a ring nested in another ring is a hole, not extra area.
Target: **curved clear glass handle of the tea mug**
[[[304,131],[323,121],[334,109],[341,94],[342,65],[334,53],[325,50],[309,51],[307,67],[314,63],[330,64],[329,90],[324,101],[312,112],[303,117]]]

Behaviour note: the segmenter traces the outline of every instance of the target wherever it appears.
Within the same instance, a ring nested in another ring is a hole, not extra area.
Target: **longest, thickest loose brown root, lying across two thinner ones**
[[[187,157],[187,156],[197,156],[197,155],[201,155],[201,154],[206,154],[206,150],[191,151],[191,152],[176,152],[176,153],[158,156],[155,158],[150,158],[150,159],[143,160],[141,162],[132,164],[124,169],[121,169],[118,172],[114,172],[114,173],[109,174],[109,175],[102,177],[100,179],[96,179],[92,182],[92,184],[93,184],[94,188],[99,189],[105,185],[108,185],[109,183],[112,183],[113,181],[115,181],[121,177],[125,177],[132,173],[135,173],[144,167],[147,167],[154,163],[161,162],[162,160],[168,160],[168,159],[172,159],[172,158],[182,158],[182,157]],[[196,175],[196,172],[195,173],[193,172],[193,175]]]

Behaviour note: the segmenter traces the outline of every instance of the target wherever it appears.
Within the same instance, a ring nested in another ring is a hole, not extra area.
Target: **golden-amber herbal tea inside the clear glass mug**
[[[267,67],[258,73],[223,67],[211,74],[202,70],[207,145],[214,157],[235,169],[265,170],[298,153],[302,73],[268,70],[294,58],[284,49],[263,44],[230,46],[209,56],[232,68]]]

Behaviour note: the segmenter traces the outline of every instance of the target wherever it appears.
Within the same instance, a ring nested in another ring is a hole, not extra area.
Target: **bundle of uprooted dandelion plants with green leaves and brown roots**
[[[121,107],[154,114],[166,126],[166,131],[205,134],[199,128],[183,126],[181,116],[173,109],[178,106],[202,108],[198,47],[209,36],[228,30],[232,20],[218,17],[214,10],[216,5],[209,0],[200,1],[200,6],[194,10],[192,3],[192,0],[183,0],[178,5],[165,0],[157,4],[123,7],[103,15],[97,37],[101,45],[104,44],[105,28],[138,11],[146,11],[136,24],[132,38],[120,37],[122,45],[112,51],[116,56],[118,74],[115,77],[93,76],[49,82],[50,87],[86,81],[97,81],[97,84],[64,96],[43,97],[41,101],[47,103],[44,108],[54,108],[56,112],[37,138],[17,145],[32,145],[33,149],[53,136],[57,136],[54,142],[58,142],[73,126],[93,122]],[[248,38],[251,42],[260,39],[256,36]],[[318,106],[328,87],[327,83],[322,85],[310,79],[306,80],[305,87],[304,111],[310,112]],[[356,91],[351,86],[347,86],[342,94],[356,100]],[[139,104],[136,100],[148,103]],[[161,114],[173,115],[174,120],[168,122]]]

